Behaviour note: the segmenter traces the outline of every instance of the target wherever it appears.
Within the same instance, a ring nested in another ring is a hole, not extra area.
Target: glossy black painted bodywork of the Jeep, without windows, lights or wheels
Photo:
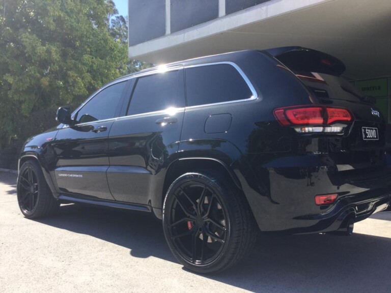
[[[371,113],[375,106],[317,97],[271,52],[241,51],[169,65],[182,68],[175,111],[126,116],[134,80],[156,74],[154,69],[113,81],[130,80],[116,117],[59,125],[30,138],[20,163],[37,159],[55,197],[128,204],[153,210],[158,218],[175,176],[205,166],[243,191],[262,231],[332,231],[347,216],[358,221],[385,209],[391,170],[384,155],[385,122]],[[186,68],[218,62],[236,64],[257,96],[186,107]],[[311,104],[347,108],[354,121],[343,134],[299,134],[274,118],[275,108]],[[94,132],[101,126],[106,129]],[[379,140],[362,140],[361,127],[377,127]],[[59,176],[64,172],[83,177]],[[328,193],[337,193],[337,201],[316,206],[315,195]]]

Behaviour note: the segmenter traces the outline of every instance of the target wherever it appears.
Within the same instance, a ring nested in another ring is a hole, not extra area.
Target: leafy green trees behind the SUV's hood
[[[147,66],[128,60],[116,14],[108,0],[0,0],[0,142],[20,136],[31,113],[78,104]]]

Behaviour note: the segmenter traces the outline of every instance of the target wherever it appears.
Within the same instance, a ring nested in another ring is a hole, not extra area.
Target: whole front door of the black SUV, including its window
[[[61,193],[113,199],[108,189],[108,133],[118,116],[128,82],[97,93],[75,116],[75,125],[59,130],[55,151],[55,181]]]

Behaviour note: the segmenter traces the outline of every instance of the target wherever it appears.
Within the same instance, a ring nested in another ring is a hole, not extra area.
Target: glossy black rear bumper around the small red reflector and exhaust
[[[385,210],[390,202],[388,167],[373,176],[367,173],[352,177],[351,172],[340,172],[333,166],[268,167],[263,170],[263,178],[265,174],[268,178],[258,181],[263,190],[257,190],[255,184],[242,184],[261,231],[335,231],[346,217],[354,217],[355,222],[364,220]],[[329,193],[338,194],[333,204],[315,204],[315,195]]]

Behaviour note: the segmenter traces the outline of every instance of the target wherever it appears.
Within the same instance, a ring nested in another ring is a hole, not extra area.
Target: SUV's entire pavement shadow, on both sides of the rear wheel
[[[39,222],[121,245],[134,257],[176,262],[161,222],[149,214],[69,204]],[[254,292],[389,292],[390,272],[389,238],[263,235],[237,266],[202,276]]]

